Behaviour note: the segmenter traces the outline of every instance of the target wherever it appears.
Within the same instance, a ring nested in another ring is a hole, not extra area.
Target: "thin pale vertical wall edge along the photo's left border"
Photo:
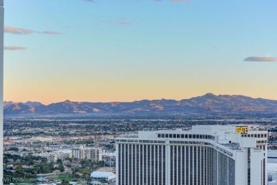
[[[4,0],[0,0],[0,139],[3,141],[3,56],[4,56]],[[0,164],[3,164],[3,142],[0,146]],[[0,179],[3,179],[3,165],[0,165]]]

